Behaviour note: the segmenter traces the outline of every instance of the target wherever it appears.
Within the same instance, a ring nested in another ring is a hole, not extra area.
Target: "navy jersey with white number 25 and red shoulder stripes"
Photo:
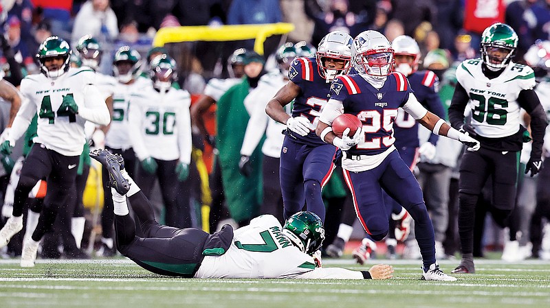
[[[397,108],[403,106],[412,93],[405,75],[391,73],[378,90],[361,75],[340,76],[331,84],[331,99],[344,105],[344,113],[356,115],[363,122],[364,137],[348,153],[380,154],[395,142],[393,122]]]

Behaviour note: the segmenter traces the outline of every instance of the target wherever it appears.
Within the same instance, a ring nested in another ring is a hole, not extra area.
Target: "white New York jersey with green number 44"
[[[104,102],[103,106],[86,104],[88,100],[85,99],[85,86],[95,82],[96,73],[87,67],[71,68],[55,80],[41,73],[23,78],[21,93],[29,99],[29,104],[34,105],[31,108],[21,106],[19,113],[24,113],[23,117],[28,119],[32,119],[36,113],[39,115],[38,136],[33,141],[65,156],[80,155],[85,143],[86,120],[61,107],[61,104],[64,96],[71,95],[79,107],[104,107],[107,110]]]

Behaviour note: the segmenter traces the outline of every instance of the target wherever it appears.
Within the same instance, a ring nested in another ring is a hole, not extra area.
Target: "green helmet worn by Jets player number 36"
[[[487,27],[481,35],[481,59],[487,67],[501,69],[506,67],[518,47],[518,35],[509,25],[495,23]],[[489,56],[491,49],[505,49],[508,54],[502,59]]]

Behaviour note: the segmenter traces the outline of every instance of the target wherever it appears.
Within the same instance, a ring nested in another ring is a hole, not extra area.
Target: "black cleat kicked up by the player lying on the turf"
[[[122,156],[111,154],[107,150],[94,150],[90,152],[90,157],[100,162],[107,172],[109,172],[109,187],[113,187],[115,191],[122,196],[130,190],[130,183],[122,176],[120,170],[124,169],[124,160]]]

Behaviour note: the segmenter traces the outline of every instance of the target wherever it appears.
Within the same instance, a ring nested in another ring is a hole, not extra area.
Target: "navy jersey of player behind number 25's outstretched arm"
[[[437,75],[432,71],[415,71],[408,76],[408,82],[422,106],[445,119],[445,109],[436,90],[439,82]],[[395,118],[394,137],[397,149],[419,146],[418,122],[403,109],[398,110]],[[429,141],[435,144],[437,138],[436,134],[432,134]]]

